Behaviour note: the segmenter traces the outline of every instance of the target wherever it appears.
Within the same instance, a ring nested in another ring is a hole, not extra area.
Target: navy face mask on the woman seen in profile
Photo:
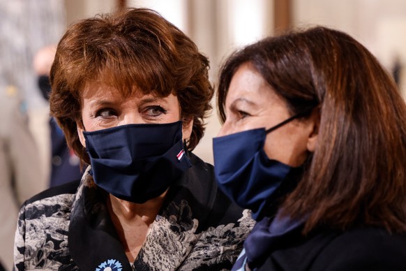
[[[220,189],[259,221],[276,212],[275,201],[292,191],[303,169],[268,158],[266,134],[291,122],[294,115],[272,128],[253,129],[213,138],[214,172]]]

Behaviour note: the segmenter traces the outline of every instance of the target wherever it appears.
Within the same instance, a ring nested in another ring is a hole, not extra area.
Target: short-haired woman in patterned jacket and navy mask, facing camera
[[[16,270],[230,270],[253,219],[192,152],[211,110],[208,69],[195,43],[153,10],[66,31],[50,110],[90,166],[81,182],[22,206]]]

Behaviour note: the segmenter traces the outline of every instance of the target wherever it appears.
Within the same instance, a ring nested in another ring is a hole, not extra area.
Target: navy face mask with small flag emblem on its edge
[[[91,175],[102,189],[133,203],[160,196],[191,167],[182,122],[128,124],[83,132]]]

